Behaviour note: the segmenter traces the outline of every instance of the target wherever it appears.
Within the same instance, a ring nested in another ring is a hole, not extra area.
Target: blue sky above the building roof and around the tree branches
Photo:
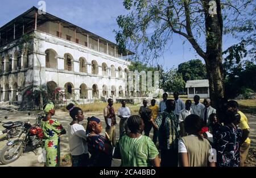
[[[1,0],[0,27],[32,6],[39,7],[38,2],[39,0]],[[113,30],[118,29],[115,19],[118,15],[127,14],[122,2],[122,0],[46,0],[46,11],[115,42]],[[188,42],[183,45],[184,38],[174,35],[172,41],[173,44],[158,60],[159,64],[164,65],[164,69],[177,67],[180,63],[191,59],[201,59]],[[237,40],[224,37],[223,42],[225,50],[237,43]]]

